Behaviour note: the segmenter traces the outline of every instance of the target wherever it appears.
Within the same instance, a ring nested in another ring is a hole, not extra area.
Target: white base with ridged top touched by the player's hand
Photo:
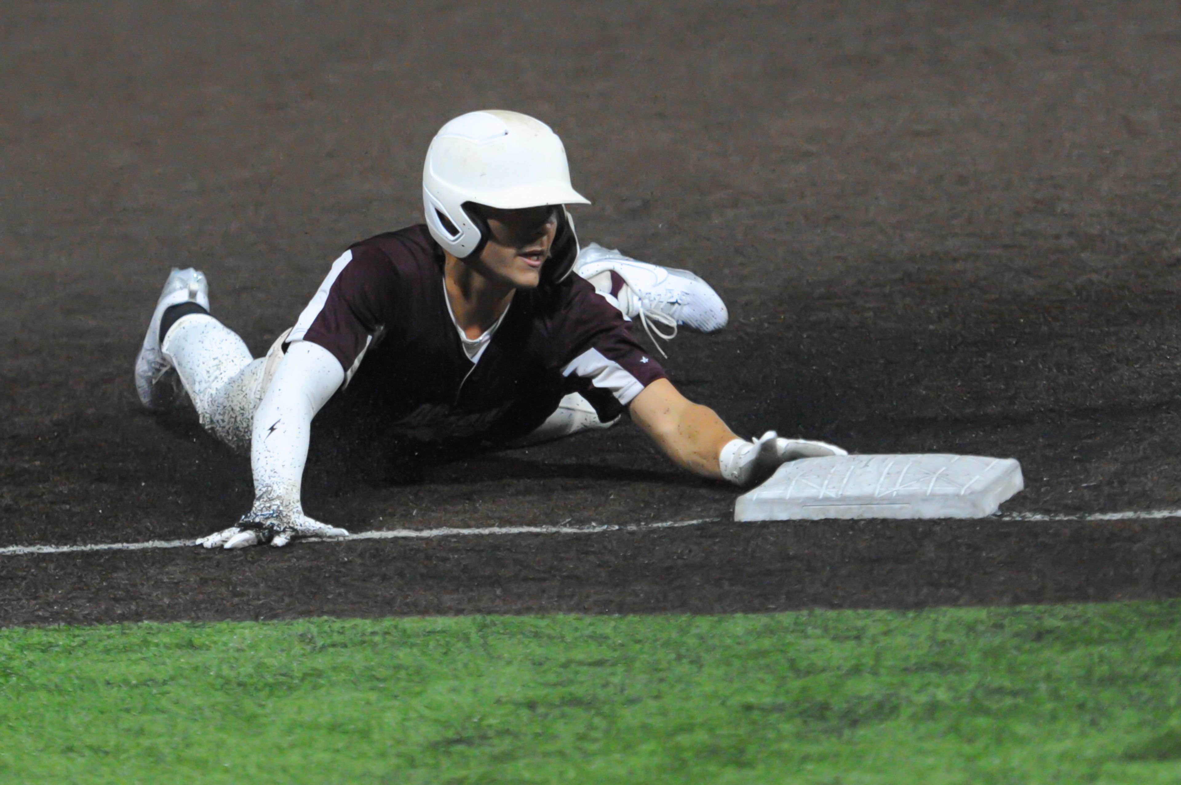
[[[984,518],[1025,488],[1012,458],[829,456],[785,463],[738,497],[735,521]]]

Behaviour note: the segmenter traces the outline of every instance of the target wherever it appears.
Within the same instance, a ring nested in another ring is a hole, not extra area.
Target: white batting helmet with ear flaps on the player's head
[[[487,224],[475,210],[464,209],[468,202],[502,210],[590,203],[570,185],[566,148],[557,135],[528,115],[501,110],[461,115],[439,129],[426,151],[426,227],[458,259],[478,253],[488,241]],[[549,277],[555,281],[566,277],[574,263],[573,257],[565,259],[574,235],[565,207],[560,218],[559,237],[546,264],[554,268]],[[576,256],[576,238],[573,244]]]

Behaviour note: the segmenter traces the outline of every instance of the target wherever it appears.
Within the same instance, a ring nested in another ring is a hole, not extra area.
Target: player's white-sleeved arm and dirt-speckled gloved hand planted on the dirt
[[[300,486],[312,419],[345,380],[328,349],[308,341],[292,344],[254,413],[250,469],[254,508],[236,526],[198,541],[205,548],[286,545],[298,537],[342,537],[348,532],[304,515]]]

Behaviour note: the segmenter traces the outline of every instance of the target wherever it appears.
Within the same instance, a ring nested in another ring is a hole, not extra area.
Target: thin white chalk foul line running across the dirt
[[[1004,512],[981,521],[1159,521],[1162,518],[1181,518],[1181,510],[1129,510],[1125,512]],[[354,542],[359,539],[438,539],[442,537],[503,537],[508,535],[595,535],[607,531],[655,531],[659,529],[683,529],[699,526],[704,523],[722,523],[725,518],[693,518],[691,521],[659,521],[654,523],[592,523],[582,526],[565,523],[546,526],[479,526],[459,529],[442,526],[438,529],[378,529],[359,531],[347,537],[325,539],[309,537],[301,543],[318,542]],[[762,522],[771,523],[771,522]],[[807,523],[821,523],[809,521]],[[749,525],[749,524],[748,524]],[[165,550],[169,548],[193,548],[194,539],[148,539],[133,543],[96,543],[90,545],[7,545],[0,548],[0,556],[32,556],[37,554],[86,554],[110,550]]]

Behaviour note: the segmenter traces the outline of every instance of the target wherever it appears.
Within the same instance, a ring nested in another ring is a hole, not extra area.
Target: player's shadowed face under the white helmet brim
[[[481,272],[517,289],[541,283],[541,266],[557,234],[555,207],[498,210],[481,207],[491,236],[479,255]]]

